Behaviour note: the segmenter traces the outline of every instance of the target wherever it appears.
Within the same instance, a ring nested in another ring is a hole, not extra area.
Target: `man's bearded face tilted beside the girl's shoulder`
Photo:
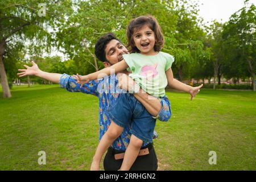
[[[111,65],[118,63],[123,60],[123,54],[129,53],[125,46],[118,40],[111,40],[105,48],[106,59],[109,61],[104,62],[105,67],[110,67]]]

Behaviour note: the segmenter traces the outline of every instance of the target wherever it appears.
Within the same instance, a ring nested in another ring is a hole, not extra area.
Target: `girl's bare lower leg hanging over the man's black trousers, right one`
[[[134,161],[139,155],[143,141],[134,135],[131,135],[129,146],[125,151],[125,157],[123,158],[123,163],[120,171],[129,171],[131,166],[133,166]]]

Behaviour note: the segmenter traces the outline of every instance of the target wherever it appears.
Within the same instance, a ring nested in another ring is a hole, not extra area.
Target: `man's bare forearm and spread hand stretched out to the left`
[[[20,73],[18,73],[17,75],[19,75],[19,77],[34,75],[40,78],[44,78],[51,82],[55,82],[56,84],[59,84],[60,77],[62,76],[61,74],[44,72],[39,69],[38,65],[34,61],[31,61],[31,63],[32,63],[32,67],[28,67],[28,65],[24,65],[24,67],[27,69],[18,69]]]

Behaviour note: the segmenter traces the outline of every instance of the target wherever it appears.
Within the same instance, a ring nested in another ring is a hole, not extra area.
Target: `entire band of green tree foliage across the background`
[[[42,63],[39,67],[51,72],[85,75],[104,68],[94,56],[97,39],[114,32],[127,44],[126,27],[130,20],[148,14],[155,16],[162,27],[163,51],[175,57],[175,77],[209,78],[218,68],[217,74],[226,78],[245,78],[256,69],[255,6],[247,7],[247,2],[228,23],[214,21],[206,29],[198,15],[199,5],[187,0],[44,1],[46,16],[38,15],[42,9],[39,3],[0,2],[0,26],[4,27],[0,39],[7,40],[4,63],[10,80],[15,78],[15,63],[32,59],[38,59]],[[43,56],[52,48],[63,52],[69,60]]]

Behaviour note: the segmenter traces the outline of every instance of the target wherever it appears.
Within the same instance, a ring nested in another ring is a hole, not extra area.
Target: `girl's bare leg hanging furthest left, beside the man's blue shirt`
[[[118,126],[114,122],[112,122],[109,126],[109,129],[106,133],[102,136],[100,143],[96,149],[95,155],[93,157],[92,165],[90,166],[91,171],[98,171],[100,170],[100,162],[101,158],[108,150],[109,146],[114,142],[115,139],[121,135],[123,131],[123,127]]]

